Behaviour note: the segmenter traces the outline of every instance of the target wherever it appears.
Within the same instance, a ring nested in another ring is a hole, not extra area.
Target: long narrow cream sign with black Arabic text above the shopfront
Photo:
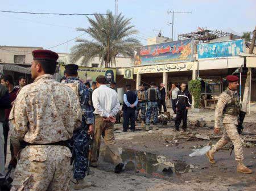
[[[143,66],[134,67],[134,74],[146,74],[146,73],[162,73],[162,72],[174,72],[174,71],[189,71],[196,70],[197,62],[186,63],[171,63],[167,65],[155,65],[155,66]]]

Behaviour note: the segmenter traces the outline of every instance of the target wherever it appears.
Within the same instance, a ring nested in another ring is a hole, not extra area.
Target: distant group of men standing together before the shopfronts
[[[139,113],[141,113],[141,126],[144,127],[144,124],[146,124],[146,130],[151,129],[151,115],[153,117],[153,125],[159,124],[158,115],[162,113],[162,106],[163,111],[167,112],[166,100],[168,100],[168,97],[164,86],[163,83],[160,83],[160,86],[156,87],[156,83],[151,82],[150,88],[146,90],[145,84],[139,84],[139,90],[133,92],[131,91],[131,85],[126,85],[122,108],[124,132],[128,129],[135,131],[135,125],[137,125],[139,120]],[[179,131],[182,120],[183,126],[181,131],[186,131],[188,109],[192,106],[192,96],[187,90],[187,85],[181,83],[179,89],[173,83],[168,95],[171,98],[174,114],[176,114],[175,130]]]

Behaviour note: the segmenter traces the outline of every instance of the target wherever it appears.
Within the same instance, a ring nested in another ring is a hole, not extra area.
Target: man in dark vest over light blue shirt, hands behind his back
[[[131,120],[130,130],[135,131],[135,111],[138,104],[137,95],[131,91],[131,85],[126,85],[126,92],[123,95],[123,131],[127,132],[129,120]]]

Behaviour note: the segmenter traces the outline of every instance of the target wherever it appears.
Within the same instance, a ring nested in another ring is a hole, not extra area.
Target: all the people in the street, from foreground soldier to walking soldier
[[[14,86],[10,75],[1,78],[0,179],[5,177],[8,136],[11,150],[9,168],[15,168],[13,191],[68,190],[70,184],[74,189],[92,186],[85,177],[89,167],[98,165],[101,137],[114,164],[114,172],[122,172],[124,164],[114,137],[115,116],[120,111],[115,83],[107,86],[108,80],[102,75],[92,84],[84,83],[78,78],[79,68],[74,64],[65,66],[65,78],[59,83],[53,78],[59,56],[51,50],[34,50],[32,55],[33,83],[27,84],[26,78],[20,77],[19,85]],[[238,103],[230,98],[237,96],[238,79],[228,80],[229,89],[221,94],[217,104],[214,130],[215,133],[220,131],[220,117],[225,113],[224,135],[207,156],[210,163],[215,163],[214,153],[230,138],[238,162],[237,171],[251,173],[242,163],[242,146],[236,130],[238,121],[233,113]],[[175,130],[179,131],[183,121],[181,131],[186,131],[188,109],[192,106],[187,84],[181,83],[180,88],[172,84],[168,95],[176,113]],[[123,95],[123,131],[135,131],[139,113],[141,126],[146,124],[146,130],[151,128],[151,116],[152,124],[158,125],[162,107],[164,112],[167,111],[168,95],[163,83],[156,87],[156,83],[151,82],[149,88],[140,84],[136,91],[127,84]],[[228,109],[225,108],[227,103]]]

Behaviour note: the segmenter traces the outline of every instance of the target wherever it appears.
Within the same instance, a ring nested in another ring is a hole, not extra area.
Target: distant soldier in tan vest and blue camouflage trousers
[[[141,126],[146,122],[146,95],[144,84],[139,85],[139,90],[136,91],[138,97],[138,105],[136,107],[135,120],[138,120],[139,111],[141,110]]]

